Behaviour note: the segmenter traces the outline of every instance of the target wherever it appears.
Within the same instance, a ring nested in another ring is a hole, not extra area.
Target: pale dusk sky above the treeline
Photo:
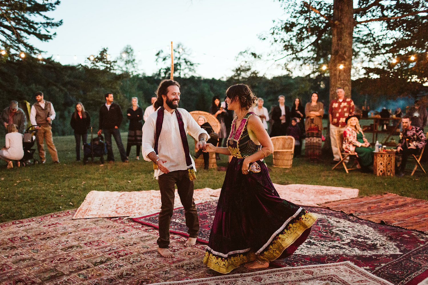
[[[151,75],[160,68],[155,53],[169,52],[173,41],[192,51],[191,59],[200,64],[197,75],[218,79],[232,74],[240,51],[271,50],[258,35],[283,17],[283,9],[273,0],[62,0],[48,16],[63,24],[55,29],[53,40],[32,41],[46,51],[43,57],[74,65],[107,47],[114,59],[129,44],[140,72]],[[282,73],[272,60],[258,69],[268,76]]]

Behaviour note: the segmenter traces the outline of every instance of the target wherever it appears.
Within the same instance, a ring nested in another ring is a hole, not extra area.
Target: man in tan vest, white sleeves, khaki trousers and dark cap
[[[43,92],[39,91],[36,93],[36,101],[33,106],[31,106],[30,111],[30,122],[32,125],[37,125],[36,129],[36,142],[37,150],[39,152],[40,160],[42,163],[46,162],[44,141],[48,146],[49,153],[51,154],[52,161],[54,163],[59,163],[58,153],[56,152],[55,145],[52,140],[52,120],[55,119],[55,110],[51,102],[45,101],[43,99]]]

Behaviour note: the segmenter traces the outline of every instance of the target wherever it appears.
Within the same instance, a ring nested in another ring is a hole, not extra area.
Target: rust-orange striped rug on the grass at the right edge
[[[375,223],[428,232],[428,201],[386,193],[321,204]]]

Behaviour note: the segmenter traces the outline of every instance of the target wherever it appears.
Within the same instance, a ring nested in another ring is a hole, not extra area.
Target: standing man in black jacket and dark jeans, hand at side
[[[122,144],[122,138],[120,137],[119,126],[122,123],[123,115],[122,109],[116,103],[113,103],[113,94],[105,94],[106,103],[100,108],[100,123],[98,135],[104,132],[104,138],[107,144],[107,161],[109,163],[114,162],[113,146],[111,143],[111,136],[113,135],[116,141],[117,147],[119,148],[120,158],[122,162],[128,162],[126,158],[125,147]]]

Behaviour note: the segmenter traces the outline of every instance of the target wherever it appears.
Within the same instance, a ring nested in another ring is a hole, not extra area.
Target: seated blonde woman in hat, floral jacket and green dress
[[[373,165],[373,149],[364,136],[357,115],[349,115],[345,122],[347,126],[343,131],[343,150],[356,152],[361,165],[361,171],[369,173]]]

